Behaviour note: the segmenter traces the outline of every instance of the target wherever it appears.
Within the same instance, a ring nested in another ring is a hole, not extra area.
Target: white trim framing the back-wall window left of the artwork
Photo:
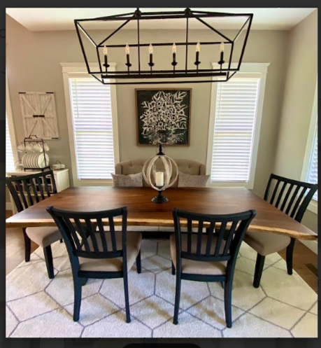
[[[116,63],[110,63],[109,70],[115,71]],[[73,118],[71,112],[71,98],[69,90],[69,78],[76,77],[77,75],[84,76],[88,74],[85,63],[60,63],[62,66],[62,75],[64,78],[64,98],[66,102],[66,114],[67,114],[67,126],[69,133],[69,147],[71,155],[71,172],[73,176],[73,186],[113,186],[112,179],[82,179],[79,180],[77,176],[77,164],[76,164],[76,148],[75,139],[73,137]],[[90,67],[98,69],[97,63],[90,63]],[[113,80],[111,80],[113,82]],[[118,117],[117,117],[117,97],[116,97],[116,86],[110,85],[110,98],[111,98],[111,110],[113,117],[113,150],[114,150],[114,161],[120,162],[120,150],[119,150],[119,139],[118,139]]]

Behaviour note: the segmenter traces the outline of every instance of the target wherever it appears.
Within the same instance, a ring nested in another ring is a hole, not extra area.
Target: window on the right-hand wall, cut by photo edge
[[[308,139],[306,141],[306,153],[304,155],[304,165],[301,174],[302,181],[308,183],[318,183],[318,78],[315,86],[310,127]],[[313,196],[313,200],[308,205],[308,209],[318,214],[318,191]]]

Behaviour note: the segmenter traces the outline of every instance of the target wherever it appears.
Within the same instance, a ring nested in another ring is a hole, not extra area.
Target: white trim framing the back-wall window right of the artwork
[[[250,180],[248,183],[243,182],[220,182],[220,183],[208,183],[208,186],[212,187],[245,187],[252,189],[255,181],[255,167],[257,163],[257,149],[259,147],[259,132],[261,129],[262,121],[262,111],[263,111],[263,102],[264,102],[264,91],[266,83],[266,74],[267,69],[270,63],[242,63],[241,64],[241,73],[247,74],[261,74],[261,81],[259,85],[259,99],[257,102],[257,118],[255,122],[255,132],[254,132],[254,141],[253,141],[253,150],[252,150],[252,162],[250,168]],[[232,63],[231,67],[236,67],[237,63]],[[217,63],[212,63],[212,67],[218,69],[220,66]],[[236,73],[237,76],[238,73]],[[213,136],[214,136],[214,125],[215,125],[215,104],[216,104],[216,94],[217,94],[217,85],[212,83],[211,88],[211,106],[210,106],[210,118],[208,124],[208,148],[207,148],[207,160],[206,168],[207,174],[211,174],[212,167],[212,155],[213,155]]]

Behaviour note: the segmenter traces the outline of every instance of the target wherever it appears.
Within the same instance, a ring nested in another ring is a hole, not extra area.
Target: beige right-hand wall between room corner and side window
[[[300,180],[318,73],[318,12],[289,33],[288,64],[274,172]],[[304,225],[318,232],[318,215],[306,211]]]

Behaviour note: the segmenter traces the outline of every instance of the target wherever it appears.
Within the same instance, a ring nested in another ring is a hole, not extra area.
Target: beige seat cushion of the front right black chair
[[[182,251],[187,251],[187,235],[181,235]],[[207,235],[202,237],[201,241],[201,253],[206,251]],[[214,235],[211,245],[211,255],[214,254],[217,237]],[[171,235],[169,238],[169,246],[171,248],[171,259],[173,260],[174,267],[176,268],[176,237]],[[224,248],[224,242],[222,242],[221,250]],[[196,253],[197,249],[197,235],[192,235],[191,250],[192,253]],[[195,261],[182,258],[182,273],[189,274],[207,274],[207,275],[221,275],[225,274],[227,267],[227,261]]]

